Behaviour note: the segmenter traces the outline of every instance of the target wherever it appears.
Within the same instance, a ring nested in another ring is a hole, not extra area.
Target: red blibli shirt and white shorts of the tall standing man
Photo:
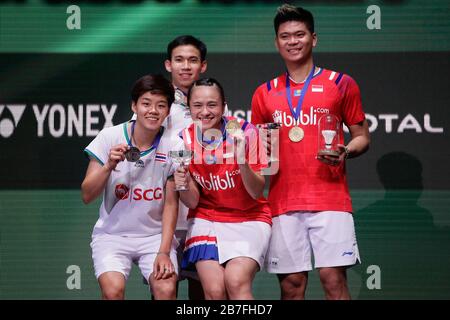
[[[259,86],[252,99],[254,124],[281,124],[280,168],[271,176],[269,191],[274,218],[267,270],[311,270],[311,247],[316,268],[353,265],[359,261],[359,252],[345,165],[330,166],[316,156],[321,116],[333,114],[347,126],[365,119],[359,88],[348,75],[318,68],[296,121],[288,105],[287,81],[292,106],[297,106],[304,83],[295,83],[286,73]],[[289,130],[295,125],[304,131],[300,142],[289,139]],[[343,144],[342,125],[339,136]]]

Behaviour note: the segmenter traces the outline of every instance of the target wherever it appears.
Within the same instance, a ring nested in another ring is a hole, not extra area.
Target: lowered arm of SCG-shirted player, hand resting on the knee
[[[164,209],[162,214],[161,245],[156,255],[153,266],[153,274],[156,280],[170,277],[175,268],[170,260],[173,235],[178,218],[178,194],[175,191],[175,183],[170,177],[166,182],[164,195]],[[167,270],[166,272],[164,272]]]

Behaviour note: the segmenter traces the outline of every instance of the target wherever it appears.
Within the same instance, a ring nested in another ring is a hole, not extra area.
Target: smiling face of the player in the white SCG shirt
[[[164,119],[169,114],[167,98],[162,94],[144,93],[131,109],[136,113],[136,124],[149,131],[159,130]]]

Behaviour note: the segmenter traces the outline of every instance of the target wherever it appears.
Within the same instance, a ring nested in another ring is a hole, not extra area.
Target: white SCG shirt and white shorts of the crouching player
[[[134,121],[103,129],[86,147],[85,154],[101,165],[108,161],[111,147],[131,145],[128,126]],[[182,147],[161,128],[153,146],[140,153],[137,162],[121,161],[108,178],[100,217],[92,232],[92,258],[98,278],[107,271],[117,271],[128,278],[132,262],[139,265],[149,279],[161,244],[162,212],[167,179],[176,165],[168,156],[170,150]],[[177,271],[174,238],[170,259]]]

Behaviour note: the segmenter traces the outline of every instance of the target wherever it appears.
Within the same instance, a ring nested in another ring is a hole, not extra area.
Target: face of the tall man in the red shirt
[[[302,63],[312,58],[312,49],[317,44],[317,36],[300,21],[280,24],[275,38],[275,46],[286,63]]]

